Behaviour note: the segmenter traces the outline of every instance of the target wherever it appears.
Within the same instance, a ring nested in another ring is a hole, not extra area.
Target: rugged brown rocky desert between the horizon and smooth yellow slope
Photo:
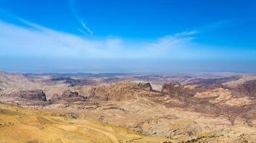
[[[129,81],[119,77],[112,83],[101,78],[81,79],[104,81],[88,85],[76,77],[79,84],[70,86],[70,78],[4,74],[0,101],[44,112],[72,113],[76,119],[95,119],[170,142],[256,140],[256,76],[154,77],[153,81],[152,77],[129,77]],[[119,82],[121,79],[125,80]],[[165,84],[159,88],[162,80]]]

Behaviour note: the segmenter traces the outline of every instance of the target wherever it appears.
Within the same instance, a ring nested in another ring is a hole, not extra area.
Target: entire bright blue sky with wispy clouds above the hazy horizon
[[[0,70],[256,73],[253,0],[0,0]]]

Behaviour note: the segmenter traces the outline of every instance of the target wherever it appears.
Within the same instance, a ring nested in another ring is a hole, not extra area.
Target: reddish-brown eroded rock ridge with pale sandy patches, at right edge
[[[252,97],[252,94],[255,93],[253,92],[253,82],[250,81],[250,86],[248,84],[242,85],[242,89],[225,89],[222,88],[224,86],[221,84],[207,87],[165,84],[162,92],[170,96],[170,102],[165,102],[168,107],[179,107],[192,112],[224,116],[232,124],[252,124],[252,120],[256,118],[254,114],[251,114],[255,111],[255,98]],[[245,86],[250,88],[245,88]],[[246,92],[238,92],[238,90]],[[248,91],[251,91],[252,94],[248,94]],[[174,102],[175,100],[177,102]]]

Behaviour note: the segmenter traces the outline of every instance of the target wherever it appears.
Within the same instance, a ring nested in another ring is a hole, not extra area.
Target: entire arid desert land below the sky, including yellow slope
[[[0,73],[0,142],[256,142],[256,75]]]

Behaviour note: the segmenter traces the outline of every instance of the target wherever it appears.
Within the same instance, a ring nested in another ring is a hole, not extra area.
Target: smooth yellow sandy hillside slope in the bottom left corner
[[[0,103],[0,142],[165,142],[92,119]],[[173,141],[172,141],[173,142]]]

